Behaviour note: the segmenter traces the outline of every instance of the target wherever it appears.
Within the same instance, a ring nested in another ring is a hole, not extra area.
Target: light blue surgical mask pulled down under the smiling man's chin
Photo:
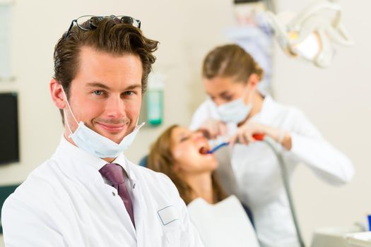
[[[64,96],[66,97],[66,94],[64,94]],[[69,106],[67,97],[66,102],[73,119],[76,121],[76,123],[78,123],[73,115],[71,107]],[[124,150],[127,150],[131,146],[131,143],[133,143],[136,137],[136,133],[138,133],[139,129],[144,125],[144,123],[141,123],[141,125],[136,126],[134,131],[129,133],[129,135],[126,135],[122,141],[117,144],[109,138],[106,138],[105,136],[100,135],[88,128],[82,121],[78,123],[78,128],[74,133],[72,133],[71,128],[69,127],[69,121],[66,118],[66,112],[64,112],[64,120],[69,128],[69,132],[71,133],[69,138],[73,140],[73,143],[75,143],[82,150],[90,153],[90,155],[98,158],[114,158],[119,156],[120,153],[124,152]]]

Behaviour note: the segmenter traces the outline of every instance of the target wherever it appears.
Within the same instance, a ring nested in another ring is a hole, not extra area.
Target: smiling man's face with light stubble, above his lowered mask
[[[115,143],[133,131],[141,109],[142,64],[139,56],[112,56],[83,47],[76,77],[71,81],[69,104],[77,121]],[[74,132],[78,123],[64,108]],[[65,136],[70,132],[65,126]]]

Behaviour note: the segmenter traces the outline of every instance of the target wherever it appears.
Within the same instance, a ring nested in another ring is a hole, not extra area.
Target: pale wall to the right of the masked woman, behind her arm
[[[310,1],[282,0],[278,8],[300,8]],[[295,5],[296,4],[296,5]],[[319,227],[365,223],[371,214],[371,18],[370,1],[341,1],[343,20],[355,46],[338,49],[330,68],[298,63],[276,50],[276,99],[295,104],[322,131],[327,140],[353,161],[355,177],[347,186],[328,186],[305,167],[294,178],[294,194],[302,231],[307,240]]]

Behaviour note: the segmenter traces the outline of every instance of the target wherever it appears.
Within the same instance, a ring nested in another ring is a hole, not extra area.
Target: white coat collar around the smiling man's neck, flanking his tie
[[[97,171],[96,174],[98,177],[95,177],[95,179],[102,179],[100,176],[99,170],[107,164],[107,162],[104,159],[100,159],[98,157],[95,157],[93,155],[90,155],[88,152],[85,152],[84,150],[81,150],[80,148],[76,147],[76,145],[73,145],[70,143],[64,135],[61,136],[61,140],[59,143],[59,146],[57,147],[57,151],[54,154],[54,159],[59,159],[63,162],[63,164],[66,164],[66,167],[70,167],[73,171],[78,172],[80,169],[73,169],[76,167],[73,166],[88,166],[90,169]],[[71,160],[73,161],[71,164]],[[136,181],[136,176],[134,172],[130,169],[130,163],[128,159],[124,156],[123,153],[121,153],[112,163],[119,164],[124,171],[126,172],[129,180]],[[69,165],[67,165],[69,164]],[[86,169],[88,169],[86,167]],[[81,175],[81,174],[79,174]],[[76,174],[76,176],[79,176]],[[79,180],[90,180],[91,177],[89,176],[79,176]]]

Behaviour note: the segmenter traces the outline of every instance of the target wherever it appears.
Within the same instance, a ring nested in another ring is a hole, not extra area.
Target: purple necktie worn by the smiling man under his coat
[[[129,213],[131,222],[133,222],[135,227],[133,205],[131,204],[130,195],[125,185],[122,167],[115,163],[109,163],[102,167],[99,172],[106,179],[109,179],[113,183],[112,186],[119,192],[119,196],[124,202],[126,211]]]

